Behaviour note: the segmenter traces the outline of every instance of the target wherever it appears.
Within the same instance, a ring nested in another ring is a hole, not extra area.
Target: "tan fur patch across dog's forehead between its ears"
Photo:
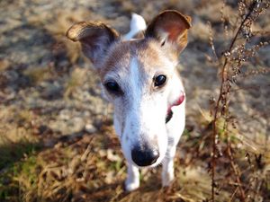
[[[177,62],[178,56],[169,47],[161,47],[157,40],[131,40],[115,44],[104,59],[99,75],[102,80],[108,72],[129,72],[130,61],[136,57],[140,71],[148,74],[151,68],[163,66],[164,60]]]

